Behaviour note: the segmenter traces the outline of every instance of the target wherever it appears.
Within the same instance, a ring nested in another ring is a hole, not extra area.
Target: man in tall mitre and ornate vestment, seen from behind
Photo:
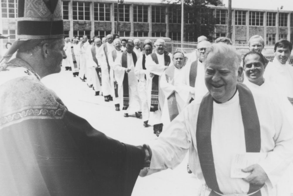
[[[130,196],[148,152],[95,130],[40,81],[66,58],[61,1],[18,1],[17,27],[16,58],[0,64],[0,195]]]

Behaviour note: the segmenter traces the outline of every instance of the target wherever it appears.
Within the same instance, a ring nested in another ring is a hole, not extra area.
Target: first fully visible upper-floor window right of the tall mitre
[[[89,2],[72,2],[73,20],[90,20]]]

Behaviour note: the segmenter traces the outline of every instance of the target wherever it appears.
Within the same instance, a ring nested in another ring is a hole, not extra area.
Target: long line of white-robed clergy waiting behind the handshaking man
[[[202,61],[211,43],[205,36],[198,37],[197,49],[189,59],[180,52],[168,54],[163,39],[157,39],[154,44],[146,39],[143,48],[139,39],[120,41],[117,34],[102,40],[97,36],[91,41],[90,44],[87,36],[73,39],[72,43],[65,38],[67,58],[63,59],[62,66],[93,87],[95,95],[104,96],[105,102],[113,101],[116,111],[120,111],[121,106],[125,117],[142,116],[144,127],[153,125],[157,136],[163,125],[165,128],[185,106],[193,100],[200,102],[208,92]],[[231,44],[225,37],[215,42]],[[286,49],[279,51],[284,47],[283,42]],[[282,40],[280,46],[275,48],[272,62],[259,57],[265,60],[263,68],[251,63],[246,66],[247,61],[258,56],[248,55],[243,61],[246,75],[239,81],[252,91],[273,94],[285,111],[293,114],[290,106],[293,104],[293,67],[287,63],[292,46],[286,40]],[[250,51],[261,53],[264,47],[261,36],[255,35],[249,40]],[[263,75],[267,75],[265,83]]]

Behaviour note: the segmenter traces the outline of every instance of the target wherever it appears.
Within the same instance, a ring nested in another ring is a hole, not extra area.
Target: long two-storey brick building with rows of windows
[[[0,33],[10,35],[0,40],[0,50],[16,36],[17,0],[1,0]],[[120,36],[170,37],[180,41],[181,11],[164,3],[143,1],[119,4]],[[113,34],[117,29],[117,1],[62,1],[64,34],[66,37]],[[210,7],[217,19],[214,38],[226,36],[227,8]],[[185,41],[193,39],[193,13],[185,13]],[[205,21],[203,21],[205,22]],[[252,35],[261,35],[266,44],[279,39],[293,40],[293,11],[232,8],[232,41],[246,43]],[[0,52],[1,54],[2,52]]]

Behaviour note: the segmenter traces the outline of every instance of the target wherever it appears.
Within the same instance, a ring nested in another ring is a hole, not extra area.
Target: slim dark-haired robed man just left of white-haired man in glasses
[[[148,55],[150,55],[153,51],[153,47],[151,45],[151,41],[144,44],[144,54],[142,54],[136,62],[135,68],[134,68],[134,74],[137,77],[138,80],[138,94],[141,102],[141,108],[142,108],[142,121],[144,121],[144,127],[148,127],[149,124],[149,105],[147,101],[147,76],[149,76],[149,72],[146,69],[145,63],[146,58]]]

